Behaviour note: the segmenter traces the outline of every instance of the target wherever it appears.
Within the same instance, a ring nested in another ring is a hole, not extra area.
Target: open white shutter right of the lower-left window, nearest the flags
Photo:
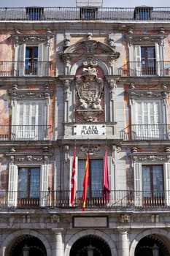
[[[42,165],[40,170],[40,206],[47,206],[48,197],[48,168]]]

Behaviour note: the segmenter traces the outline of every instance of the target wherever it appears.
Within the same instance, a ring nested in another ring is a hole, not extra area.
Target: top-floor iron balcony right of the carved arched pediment
[[[170,61],[129,61],[119,69],[122,77],[170,76]]]

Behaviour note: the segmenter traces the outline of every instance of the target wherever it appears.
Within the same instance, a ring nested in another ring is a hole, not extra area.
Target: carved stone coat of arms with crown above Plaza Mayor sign
[[[80,109],[77,112],[82,114],[86,121],[93,121],[103,111],[101,98],[104,82],[102,78],[98,78],[96,67],[82,69],[82,77],[77,78],[76,88],[80,100]]]

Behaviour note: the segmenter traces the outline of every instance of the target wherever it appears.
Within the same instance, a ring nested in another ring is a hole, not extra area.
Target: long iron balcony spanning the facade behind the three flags
[[[102,191],[93,191],[87,197],[86,208],[169,208],[170,191],[112,190],[104,198]],[[0,208],[82,208],[82,191],[77,191],[74,206],[70,191],[12,192],[0,190]]]

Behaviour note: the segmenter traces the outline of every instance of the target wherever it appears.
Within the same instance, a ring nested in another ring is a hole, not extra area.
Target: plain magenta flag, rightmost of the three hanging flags
[[[108,158],[107,158],[107,148],[104,157],[104,200],[109,201],[109,171],[108,171]]]

